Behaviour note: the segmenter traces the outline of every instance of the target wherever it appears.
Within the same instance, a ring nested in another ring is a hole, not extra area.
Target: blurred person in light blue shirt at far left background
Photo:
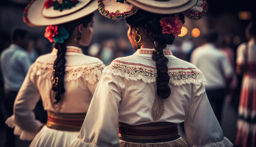
[[[14,100],[22,86],[31,60],[26,51],[28,48],[28,31],[14,29],[12,31],[12,44],[1,53],[1,69],[4,77],[4,107],[7,116],[13,114]],[[5,146],[15,146],[14,129],[7,127]]]

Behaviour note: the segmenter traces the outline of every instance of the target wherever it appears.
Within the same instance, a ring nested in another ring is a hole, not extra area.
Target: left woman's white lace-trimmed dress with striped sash
[[[7,119],[14,134],[32,140],[30,146],[68,146],[78,135],[105,64],[98,58],[82,54],[81,48],[67,47],[65,93],[55,105],[52,88],[53,63],[57,50],[39,56],[31,65],[14,104],[14,115]],[[35,119],[33,109],[42,99],[47,110],[47,124]]]

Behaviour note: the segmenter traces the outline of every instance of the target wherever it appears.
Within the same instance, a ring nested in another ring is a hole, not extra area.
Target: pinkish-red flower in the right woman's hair
[[[174,36],[178,36],[182,31],[182,20],[178,14],[170,17],[163,17],[160,20],[162,26],[162,34],[173,34]]]

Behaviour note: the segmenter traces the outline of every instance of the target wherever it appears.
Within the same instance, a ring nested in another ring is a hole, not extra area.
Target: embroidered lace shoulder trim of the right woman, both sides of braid
[[[153,83],[156,81],[156,67],[146,66],[132,62],[124,62],[114,60],[110,65],[108,74],[118,75],[127,80],[142,80],[145,83]],[[169,68],[170,83],[175,86],[202,83],[206,81],[201,71],[196,68]]]

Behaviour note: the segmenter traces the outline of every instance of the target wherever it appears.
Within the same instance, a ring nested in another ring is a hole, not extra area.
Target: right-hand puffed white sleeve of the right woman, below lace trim
[[[184,121],[185,135],[190,146],[233,146],[223,137],[222,128],[214,115],[204,84],[194,84],[190,110]]]

